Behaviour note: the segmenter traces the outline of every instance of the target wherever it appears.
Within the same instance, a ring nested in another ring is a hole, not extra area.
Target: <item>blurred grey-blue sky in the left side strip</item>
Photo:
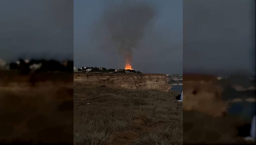
[[[72,0],[1,0],[0,59],[73,60]]]

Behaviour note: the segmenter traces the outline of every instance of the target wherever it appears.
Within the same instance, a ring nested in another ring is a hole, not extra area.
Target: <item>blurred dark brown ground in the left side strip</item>
[[[0,75],[0,144],[73,144],[72,73]]]

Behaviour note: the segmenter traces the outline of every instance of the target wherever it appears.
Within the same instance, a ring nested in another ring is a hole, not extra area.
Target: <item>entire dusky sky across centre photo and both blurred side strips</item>
[[[123,14],[125,5],[147,5],[152,17],[138,25],[142,29],[134,35],[140,37],[129,48],[135,70],[255,74],[255,0],[123,2],[76,0],[73,7],[71,0],[1,0],[0,59],[73,59],[74,46],[76,67],[123,68],[122,45],[118,45],[122,41],[113,40],[106,12]],[[132,30],[127,31],[132,24],[120,36],[126,32],[133,36]]]

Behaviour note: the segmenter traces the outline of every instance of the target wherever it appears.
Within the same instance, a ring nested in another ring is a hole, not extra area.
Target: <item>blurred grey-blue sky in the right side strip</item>
[[[255,75],[255,0],[183,0],[183,72]]]

